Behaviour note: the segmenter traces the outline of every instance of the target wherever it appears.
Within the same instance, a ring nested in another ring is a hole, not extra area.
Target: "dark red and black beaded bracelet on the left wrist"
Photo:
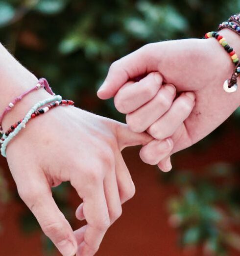
[[[46,112],[48,112],[48,110],[50,110],[51,108],[54,108],[56,106],[67,106],[67,105],[74,105],[73,101],[70,100],[62,100],[61,102],[52,102],[50,104],[48,104],[47,106],[45,106],[44,108],[38,109],[37,111],[35,111],[33,114],[31,114],[31,119],[35,118],[36,116],[39,116],[41,114],[44,114]],[[1,139],[0,139],[0,144],[3,143],[3,141],[7,138],[7,136],[13,132],[15,130],[15,128],[17,128],[18,125],[20,125],[23,122],[23,119],[21,119],[20,121],[16,122],[14,125],[12,125],[6,132],[3,133]]]

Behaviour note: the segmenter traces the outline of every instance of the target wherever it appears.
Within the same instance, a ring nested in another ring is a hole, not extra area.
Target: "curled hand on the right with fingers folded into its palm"
[[[229,44],[240,53],[238,35],[228,29],[222,30],[220,34],[225,36]],[[144,146],[140,152],[144,162],[158,163],[160,169],[168,171],[169,155],[191,146],[208,135],[239,106],[240,90],[229,94],[222,88],[223,82],[231,77],[233,68],[229,55],[214,38],[153,43],[113,63],[104,84],[98,91],[98,97],[108,99],[115,96],[116,107],[128,114],[127,123],[133,130],[142,131],[147,128],[154,138],[158,140],[168,138],[172,141],[173,148],[167,156],[160,154],[161,149],[157,150],[161,141],[156,140]],[[158,101],[161,115],[156,121],[156,110],[153,109],[156,109],[156,97],[158,98],[161,89],[159,92],[152,90],[154,86],[153,76],[149,74],[151,72],[161,73],[164,83],[173,84],[177,93],[192,91],[195,95],[193,110],[191,109],[193,102],[187,99],[186,94],[181,94],[181,104],[179,97],[170,108],[170,101],[167,98],[165,104],[168,107],[163,110],[161,101],[163,102],[163,98],[166,99],[163,97]],[[142,87],[144,84],[141,81],[139,86],[129,85],[129,81],[135,77],[146,74],[149,75],[144,78],[144,83],[151,84],[148,93],[139,89],[141,84]],[[148,111],[146,111],[146,102],[152,105]],[[169,110],[165,113],[166,109]],[[186,117],[183,112],[189,113],[190,109],[191,114],[182,122],[183,117]]]

